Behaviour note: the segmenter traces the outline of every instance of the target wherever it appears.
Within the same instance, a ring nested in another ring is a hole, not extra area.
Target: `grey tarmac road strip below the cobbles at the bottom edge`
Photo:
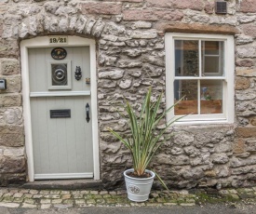
[[[229,207],[207,205],[204,207],[78,207],[78,208],[7,208],[0,207],[1,214],[255,214],[256,206]]]

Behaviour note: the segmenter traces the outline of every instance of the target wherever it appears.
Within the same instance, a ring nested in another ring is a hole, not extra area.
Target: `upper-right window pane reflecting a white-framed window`
[[[222,76],[223,42],[202,41],[202,73],[205,76]]]

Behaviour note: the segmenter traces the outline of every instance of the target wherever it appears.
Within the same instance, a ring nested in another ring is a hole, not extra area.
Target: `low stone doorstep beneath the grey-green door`
[[[46,180],[26,182],[22,185],[25,189],[34,190],[102,190],[102,181],[79,180]]]

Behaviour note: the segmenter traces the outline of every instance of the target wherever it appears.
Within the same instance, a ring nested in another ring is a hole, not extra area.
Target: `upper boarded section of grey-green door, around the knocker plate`
[[[29,67],[30,67],[30,91],[45,92],[48,91],[47,83],[47,64],[49,61],[71,60],[71,91],[90,90],[90,86],[86,83],[89,76],[90,60],[89,47],[63,47],[67,51],[67,57],[63,60],[53,60],[51,58],[52,48],[32,48],[29,49]],[[74,78],[75,67],[80,66],[82,70],[82,78],[77,81]],[[65,90],[66,91],[66,90]]]

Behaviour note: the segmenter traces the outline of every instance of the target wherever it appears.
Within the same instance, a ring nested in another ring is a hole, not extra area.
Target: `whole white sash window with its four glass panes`
[[[234,122],[234,37],[166,34],[167,106],[177,123]]]

